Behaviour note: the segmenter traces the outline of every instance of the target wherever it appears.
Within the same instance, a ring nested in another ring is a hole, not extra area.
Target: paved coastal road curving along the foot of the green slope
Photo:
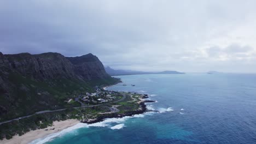
[[[103,103],[103,104],[117,103],[117,102],[123,101],[123,100],[126,98],[126,95],[125,95],[124,93],[120,93],[120,94],[123,95],[123,98],[121,98],[121,99],[119,99],[119,100],[116,100],[116,101],[111,101],[111,102],[109,102],[109,103]],[[19,119],[31,117],[31,116],[38,115],[38,114],[42,114],[42,113],[63,111],[63,110],[67,110],[67,109],[78,109],[78,108],[83,108],[83,107],[94,107],[94,106],[100,106],[100,105],[103,105],[103,104],[98,104],[98,105],[83,105],[83,106],[77,106],[77,107],[68,107],[68,108],[65,108],[65,109],[52,110],[52,111],[51,111],[51,110],[38,111],[38,112],[36,112],[36,113],[34,113],[34,114],[32,114],[32,115],[22,116],[22,117],[19,117],[19,118],[10,119],[9,121],[0,122],[0,125],[1,125],[1,124],[4,124],[4,123],[13,122],[13,121],[18,121]]]

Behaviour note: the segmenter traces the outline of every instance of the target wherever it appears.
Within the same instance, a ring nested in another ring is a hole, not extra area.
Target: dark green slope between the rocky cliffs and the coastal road
[[[9,105],[7,106],[8,113],[2,114],[0,121],[30,115],[42,110],[80,106],[79,103],[67,104],[65,100],[85,92],[92,92],[95,85],[110,85],[117,81],[110,78],[91,80],[90,82],[68,79],[39,82],[14,73],[9,74],[8,80],[13,83],[13,90],[10,93],[11,99],[0,91],[0,105]]]

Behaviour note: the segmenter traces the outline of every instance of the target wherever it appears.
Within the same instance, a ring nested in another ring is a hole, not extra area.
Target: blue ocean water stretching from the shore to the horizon
[[[109,90],[154,94],[148,107],[161,113],[79,125],[48,143],[256,143],[254,74],[118,77],[127,86]]]

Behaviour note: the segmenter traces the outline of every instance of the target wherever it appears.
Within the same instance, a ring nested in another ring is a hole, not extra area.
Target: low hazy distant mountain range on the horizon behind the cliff
[[[143,74],[185,74],[178,71],[160,71],[160,72],[148,72],[148,71],[133,71],[133,70],[114,70],[110,67],[105,67],[106,72],[111,76],[117,75],[143,75]]]

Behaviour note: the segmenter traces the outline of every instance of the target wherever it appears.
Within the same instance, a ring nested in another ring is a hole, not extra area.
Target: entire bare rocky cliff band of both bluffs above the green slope
[[[0,67],[36,80],[63,78],[86,81],[109,77],[100,59],[91,53],[80,57],[64,57],[53,52],[39,55],[0,53]]]

